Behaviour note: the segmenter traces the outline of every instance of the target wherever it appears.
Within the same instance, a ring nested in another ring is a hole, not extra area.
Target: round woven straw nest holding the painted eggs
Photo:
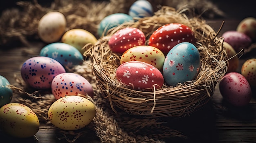
[[[164,85],[151,91],[132,90],[120,84],[115,77],[115,71],[120,65],[121,55],[110,50],[110,37],[119,29],[130,26],[140,29],[148,38],[160,26],[173,22],[185,24],[194,32],[196,42],[193,44],[200,52],[202,65],[197,77],[183,85]],[[223,39],[217,35],[218,33],[199,17],[188,18],[184,11],[162,7],[152,17],[141,18],[136,22],[124,23],[110,29],[108,35],[101,37],[96,44],[86,45],[84,48],[87,48],[87,51],[84,55],[90,55],[97,86],[110,102],[114,112],[117,112],[117,107],[134,115],[184,117],[209,101],[216,84],[227,71],[227,54],[222,48]]]

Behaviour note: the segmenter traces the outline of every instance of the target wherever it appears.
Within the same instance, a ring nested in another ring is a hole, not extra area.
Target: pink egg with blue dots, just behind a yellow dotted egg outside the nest
[[[93,89],[83,76],[76,73],[61,73],[52,80],[52,94],[56,99],[79,94],[93,98]]]

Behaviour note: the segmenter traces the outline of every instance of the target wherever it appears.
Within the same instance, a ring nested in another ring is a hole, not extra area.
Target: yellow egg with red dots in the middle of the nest
[[[164,65],[164,53],[153,46],[135,46],[124,52],[121,56],[120,63],[129,61],[141,61],[155,66],[161,70]]]

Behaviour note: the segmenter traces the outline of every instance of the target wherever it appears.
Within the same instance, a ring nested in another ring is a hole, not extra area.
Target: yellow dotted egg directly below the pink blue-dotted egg
[[[56,100],[48,110],[51,123],[62,130],[79,130],[88,125],[96,113],[92,101],[70,95]]]

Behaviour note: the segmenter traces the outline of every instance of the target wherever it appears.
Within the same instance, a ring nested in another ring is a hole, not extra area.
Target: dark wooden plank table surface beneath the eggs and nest
[[[218,31],[221,23],[225,20],[220,35],[225,31],[235,30],[236,26],[243,17],[256,16],[240,15],[240,17],[220,18],[216,20],[207,20],[207,24],[211,25],[215,31]],[[14,79],[14,74],[20,74],[20,68],[23,62],[30,57],[39,55],[40,49],[45,43],[40,41],[31,41],[31,46],[4,47],[0,49],[0,75],[6,77],[10,84],[18,86]],[[240,60],[240,68],[249,58],[256,58],[256,52],[245,53]],[[249,105],[244,108],[235,108],[228,106],[220,95],[218,85],[216,86],[213,97],[204,108],[191,114],[190,117],[180,119],[179,128],[188,136],[186,140],[175,140],[177,142],[204,142],[204,143],[256,143],[256,92],[253,89],[253,98]],[[17,95],[13,95],[15,98]],[[177,126],[178,126],[177,125]],[[40,129],[36,134],[38,140],[34,137],[27,139],[15,139],[4,134],[0,130],[0,143],[24,142],[24,143],[67,143],[65,139],[58,140],[56,138],[56,130],[50,125],[40,125]],[[86,141],[88,137],[81,137],[75,143],[97,142],[97,136],[92,136],[90,141]]]

